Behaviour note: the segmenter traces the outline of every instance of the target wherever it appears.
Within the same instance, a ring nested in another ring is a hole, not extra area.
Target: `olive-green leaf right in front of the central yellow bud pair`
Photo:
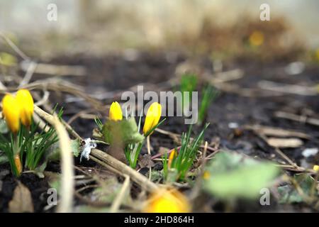
[[[123,119],[122,121],[106,121],[103,126],[103,135],[106,143],[140,143],[144,136],[138,132],[135,118]]]

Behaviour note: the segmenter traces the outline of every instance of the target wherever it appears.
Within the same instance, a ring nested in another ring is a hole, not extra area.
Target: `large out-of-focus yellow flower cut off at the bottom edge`
[[[188,213],[191,205],[188,199],[177,190],[161,189],[147,201],[144,209],[146,213]]]

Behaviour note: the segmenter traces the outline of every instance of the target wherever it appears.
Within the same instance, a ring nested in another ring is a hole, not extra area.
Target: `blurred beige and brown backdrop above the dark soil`
[[[47,20],[52,3],[57,21]],[[264,3],[271,21],[259,20]],[[318,12],[316,0],[11,0],[0,1],[0,31],[35,57],[164,48],[263,60],[307,49],[316,58]]]

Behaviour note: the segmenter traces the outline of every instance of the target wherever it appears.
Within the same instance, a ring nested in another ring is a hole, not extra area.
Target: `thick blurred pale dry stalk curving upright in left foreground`
[[[62,183],[61,183],[61,201],[57,207],[57,212],[67,213],[72,212],[73,209],[73,194],[74,194],[74,170],[73,170],[73,157],[72,148],[69,135],[65,127],[60,122],[59,118],[55,116],[53,123],[57,135],[59,137],[60,150],[61,150],[61,170],[62,170]]]

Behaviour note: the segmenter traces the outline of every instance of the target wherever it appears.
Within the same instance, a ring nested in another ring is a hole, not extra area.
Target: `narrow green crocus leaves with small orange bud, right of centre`
[[[175,148],[172,153],[170,153],[167,158],[167,153],[163,157],[163,170],[164,178],[168,182],[174,182],[177,180],[183,181],[189,170],[191,170],[198,148],[203,140],[204,132],[208,127],[209,123],[203,127],[201,133],[199,133],[196,138],[191,139],[191,128],[187,133],[181,135],[181,146],[179,149]]]

